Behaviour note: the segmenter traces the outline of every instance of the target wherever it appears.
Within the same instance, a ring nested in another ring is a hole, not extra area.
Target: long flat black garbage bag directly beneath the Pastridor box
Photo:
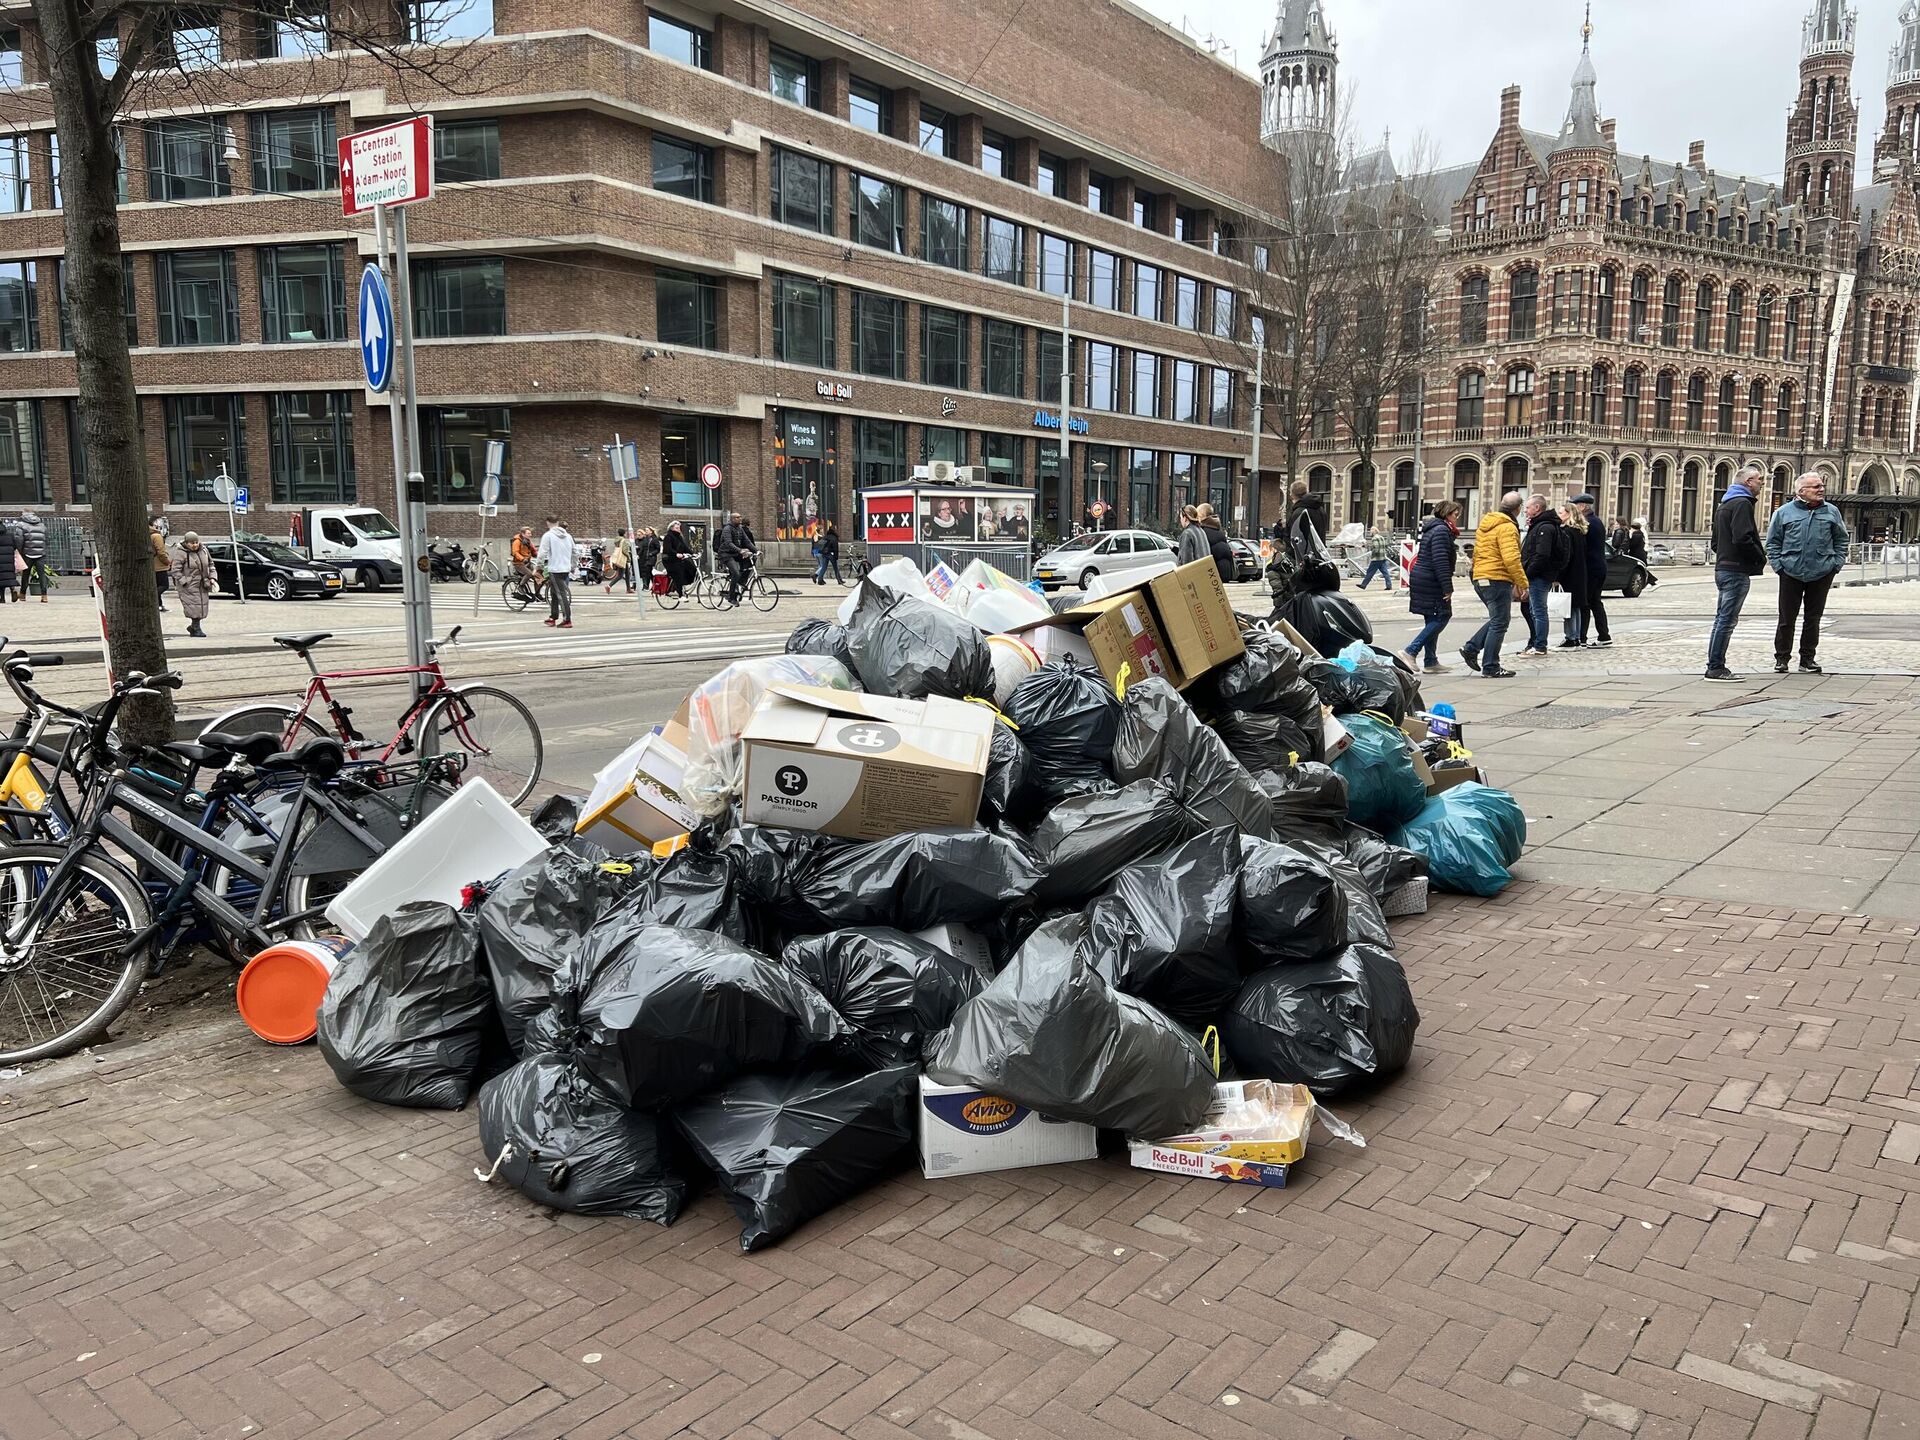
[[[970,925],[1025,900],[1033,852],[993,829],[914,829],[877,841],[743,826],[728,841],[760,904],[793,933],[847,925]]]

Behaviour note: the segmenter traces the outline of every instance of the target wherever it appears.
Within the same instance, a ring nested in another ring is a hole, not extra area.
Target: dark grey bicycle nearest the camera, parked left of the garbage
[[[276,753],[271,735],[205,735],[140,751],[182,772],[159,780],[113,745],[113,722],[129,697],[179,687],[179,672],[115,684],[69,741],[84,778],[73,833],[0,851],[0,1064],[100,1039],[198,935],[211,931],[238,960],[311,933],[338,889],[326,881],[378,858],[424,812],[428,787],[451,793],[445,781],[459,774],[455,756],[426,762],[413,801],[374,814],[376,789],[342,774],[336,739]],[[219,774],[198,791],[207,766]],[[346,864],[319,854],[342,843]]]

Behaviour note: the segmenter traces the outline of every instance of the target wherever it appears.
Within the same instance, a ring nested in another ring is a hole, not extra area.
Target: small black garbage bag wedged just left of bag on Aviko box
[[[872,1066],[918,1066],[924,1041],[987,983],[966,960],[877,925],[808,935],[780,958],[841,1012]]]

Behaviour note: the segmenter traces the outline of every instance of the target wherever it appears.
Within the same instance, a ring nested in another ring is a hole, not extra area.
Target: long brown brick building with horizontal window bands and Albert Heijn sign
[[[290,13],[311,27],[326,4]],[[1154,526],[1188,497],[1244,499],[1244,265],[1283,182],[1258,84],[1177,31],[1123,0],[1012,21],[931,0],[591,17],[407,0],[394,38],[426,25],[459,75],[419,104],[419,77],[409,98],[301,23],[180,12],[175,50],[221,63],[188,108],[154,86],[123,127],[156,509],[213,520],[225,465],[265,501],[261,530],[300,503],[392,513],[349,300],[372,232],[342,219],[332,152],[420,108],[440,184],[411,213],[436,534],[476,528],[490,438],[509,442],[511,516],[563,509],[588,534],[620,522],[616,434],[641,457],[636,518],[705,518],[714,461],[720,503],[768,540],[849,526],[860,486],[925,459],[1037,484],[1052,530],[1096,495]],[[84,511],[36,46],[27,23],[0,35],[0,505]],[[1068,296],[1064,484],[1046,407]]]

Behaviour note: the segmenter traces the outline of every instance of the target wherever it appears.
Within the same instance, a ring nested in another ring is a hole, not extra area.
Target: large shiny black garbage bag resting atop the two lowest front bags
[[[724,935],[607,924],[555,972],[526,1044],[660,1110],[745,1069],[845,1060],[854,1033],[803,975]]]

